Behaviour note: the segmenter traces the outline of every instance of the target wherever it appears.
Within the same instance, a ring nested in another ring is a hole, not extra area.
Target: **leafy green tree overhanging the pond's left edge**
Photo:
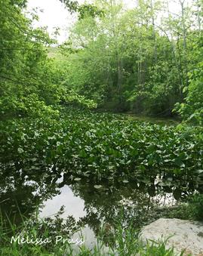
[[[54,43],[44,29],[33,29],[25,17],[25,1],[2,1],[0,10],[1,119],[19,116],[56,116],[60,104],[72,101],[94,107],[92,100],[63,86],[63,70],[48,58]]]

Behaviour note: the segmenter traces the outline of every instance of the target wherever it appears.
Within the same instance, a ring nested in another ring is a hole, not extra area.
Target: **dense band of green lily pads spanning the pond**
[[[55,166],[97,179],[126,180],[167,171],[180,177],[196,175],[201,182],[203,174],[200,127],[178,129],[112,114],[69,111],[57,120],[3,122],[0,129],[4,166],[20,165],[28,171]]]

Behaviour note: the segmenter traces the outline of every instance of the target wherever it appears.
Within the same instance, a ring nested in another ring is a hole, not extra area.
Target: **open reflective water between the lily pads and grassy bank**
[[[0,187],[2,214],[15,224],[20,224],[22,215],[29,216],[36,207],[40,208],[41,217],[51,217],[64,205],[62,216],[72,215],[82,224],[89,244],[99,236],[101,227],[111,233],[118,220],[124,227],[130,223],[141,227],[156,217],[160,207],[177,204],[198,189],[192,180],[175,182],[165,175],[145,177],[143,181],[137,177],[125,183],[103,180],[95,186],[88,178],[75,179],[64,170],[42,165],[31,169],[4,166]]]

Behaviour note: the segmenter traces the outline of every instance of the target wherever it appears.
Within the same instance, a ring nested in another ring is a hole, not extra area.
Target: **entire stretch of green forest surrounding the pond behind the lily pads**
[[[113,112],[181,116],[202,122],[202,3],[119,1],[79,6],[60,60],[48,58],[54,40],[33,29],[26,1],[1,2],[1,111],[8,116],[54,113],[58,106],[85,103]],[[56,42],[55,42],[56,43]]]

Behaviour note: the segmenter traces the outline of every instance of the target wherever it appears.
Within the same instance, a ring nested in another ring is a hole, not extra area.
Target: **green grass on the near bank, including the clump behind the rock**
[[[203,221],[202,200],[201,194],[195,194],[191,196],[187,205],[180,205],[180,208],[168,212],[168,216],[166,216],[166,212],[162,214],[165,217],[191,218],[192,220]],[[0,255],[176,255],[174,248],[167,247],[167,239],[150,241],[146,244],[140,242],[139,230],[135,230],[132,223],[125,224],[122,215],[118,215],[118,220],[115,221],[115,225],[109,232],[106,231],[105,227],[100,229],[94,248],[88,248],[86,245],[71,245],[68,242],[56,244],[54,242],[56,236],[71,238],[75,232],[82,229],[73,217],[63,220],[60,217],[61,214],[63,214],[63,208],[54,218],[40,219],[38,214],[34,214],[28,219],[21,215],[22,224],[18,227],[7,216],[0,214]],[[25,238],[29,236],[34,240],[37,238],[43,241],[51,239],[52,242],[45,245],[11,243],[11,237],[19,235]],[[84,238],[81,236],[81,239]]]

